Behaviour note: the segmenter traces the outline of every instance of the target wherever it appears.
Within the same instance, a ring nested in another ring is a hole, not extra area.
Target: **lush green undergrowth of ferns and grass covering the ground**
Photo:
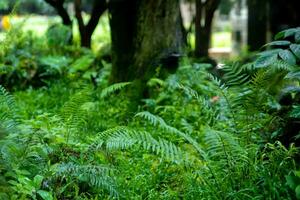
[[[182,61],[148,81],[137,113],[132,83],[108,84],[109,64],[45,50],[33,60],[47,87],[0,87],[0,198],[299,198],[299,132],[288,129],[300,116],[298,29],[283,33],[221,79]]]

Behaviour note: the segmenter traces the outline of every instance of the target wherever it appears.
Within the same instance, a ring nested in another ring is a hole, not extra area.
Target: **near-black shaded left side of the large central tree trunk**
[[[136,36],[137,0],[111,0],[111,82],[124,82],[130,79],[129,70],[133,65],[134,38]]]

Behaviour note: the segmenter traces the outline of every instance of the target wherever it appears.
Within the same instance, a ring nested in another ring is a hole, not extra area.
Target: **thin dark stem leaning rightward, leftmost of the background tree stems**
[[[61,17],[62,22],[66,26],[72,26],[72,20],[64,8],[64,0],[45,0],[46,3],[51,5],[57,12],[57,14]]]

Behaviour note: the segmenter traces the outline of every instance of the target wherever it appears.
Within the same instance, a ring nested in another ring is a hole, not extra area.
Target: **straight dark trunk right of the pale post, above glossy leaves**
[[[267,42],[268,0],[248,0],[248,50],[257,51]]]

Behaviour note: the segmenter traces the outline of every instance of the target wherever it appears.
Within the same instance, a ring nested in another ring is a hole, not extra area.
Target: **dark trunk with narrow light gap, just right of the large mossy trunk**
[[[205,2],[202,2],[201,0],[196,0],[195,56],[198,58],[208,57],[213,17],[220,2],[221,0],[207,0]]]

